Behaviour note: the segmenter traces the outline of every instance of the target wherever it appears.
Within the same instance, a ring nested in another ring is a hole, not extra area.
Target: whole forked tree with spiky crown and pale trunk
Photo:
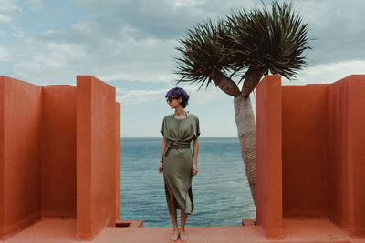
[[[182,55],[176,58],[176,74],[182,76],[178,83],[198,83],[200,89],[213,81],[234,96],[235,122],[254,203],[255,117],[249,95],[264,75],[290,79],[307,65],[307,34],[308,23],[294,13],[293,5],[275,1],[271,7],[236,11],[224,20],[197,24],[176,48]]]

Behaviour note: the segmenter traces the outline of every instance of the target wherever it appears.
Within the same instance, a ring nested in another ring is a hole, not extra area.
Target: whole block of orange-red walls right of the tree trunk
[[[365,76],[256,87],[257,222],[281,238],[283,218],[329,218],[365,235]],[[270,203],[272,202],[272,203]]]

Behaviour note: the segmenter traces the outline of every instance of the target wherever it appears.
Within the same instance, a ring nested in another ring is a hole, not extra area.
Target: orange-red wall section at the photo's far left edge
[[[0,238],[40,218],[42,87],[0,76]]]

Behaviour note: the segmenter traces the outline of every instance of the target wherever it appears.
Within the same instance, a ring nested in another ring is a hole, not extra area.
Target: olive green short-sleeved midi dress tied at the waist
[[[163,180],[169,212],[173,213],[166,185],[172,189],[175,208],[183,210],[185,214],[191,214],[193,153],[190,144],[200,135],[199,119],[193,114],[183,119],[176,119],[172,115],[165,116],[161,133],[167,139],[167,147],[163,154]]]

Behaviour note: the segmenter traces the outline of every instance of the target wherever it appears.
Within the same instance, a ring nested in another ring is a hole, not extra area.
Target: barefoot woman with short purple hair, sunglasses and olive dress
[[[171,239],[175,241],[180,237],[181,240],[186,240],[188,237],[185,233],[185,222],[193,212],[192,178],[198,173],[199,119],[185,111],[189,96],[183,88],[172,88],[165,97],[167,104],[175,112],[163,118],[158,171],[163,171],[166,201],[173,225]],[[190,150],[192,140],[193,154]],[[181,209],[180,229],[177,227],[176,209]]]

